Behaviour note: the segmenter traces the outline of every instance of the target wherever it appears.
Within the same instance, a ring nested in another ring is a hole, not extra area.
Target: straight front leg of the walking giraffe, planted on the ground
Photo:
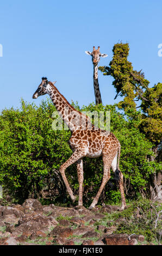
[[[78,205],[83,205],[83,160],[77,161],[77,172],[79,182],[79,201]]]

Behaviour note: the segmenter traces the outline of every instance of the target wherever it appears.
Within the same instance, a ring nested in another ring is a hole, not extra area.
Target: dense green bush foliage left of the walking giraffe
[[[69,131],[52,130],[52,103],[39,107],[22,101],[21,109],[4,109],[0,116],[0,182],[15,199],[39,197],[52,170],[71,155]],[[63,154],[64,152],[64,154]]]

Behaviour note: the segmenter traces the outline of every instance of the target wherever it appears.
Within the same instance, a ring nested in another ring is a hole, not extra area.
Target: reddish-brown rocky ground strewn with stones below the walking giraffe
[[[136,245],[144,241],[141,235],[115,234],[115,225],[98,224],[116,210],[110,205],[93,210],[45,206],[36,199],[0,205],[0,245]]]

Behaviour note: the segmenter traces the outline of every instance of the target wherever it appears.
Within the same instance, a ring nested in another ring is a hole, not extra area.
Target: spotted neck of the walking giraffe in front
[[[64,123],[68,126],[71,132],[80,129],[92,129],[94,125],[91,124],[90,119],[77,111],[70,103],[65,99],[65,97],[59,92],[59,90],[51,83],[48,82],[49,86],[47,92],[51,97],[51,100],[57,109],[60,117],[63,119]]]

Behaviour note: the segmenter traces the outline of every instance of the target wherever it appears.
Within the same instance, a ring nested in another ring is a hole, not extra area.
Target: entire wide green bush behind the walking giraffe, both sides
[[[79,106],[74,105],[78,110]],[[81,111],[111,111],[111,131],[121,143],[120,169],[124,175],[127,199],[138,197],[139,191],[147,194],[148,173],[152,172],[146,160],[151,143],[136,128],[136,121],[116,111],[116,106],[83,106]],[[68,146],[70,131],[52,129],[51,101],[42,101],[37,107],[22,100],[20,109],[4,109],[0,115],[0,184],[14,200],[41,198],[41,190],[51,191],[51,200],[67,202],[64,182],[59,167],[72,151]],[[84,159],[84,204],[90,204],[101,184],[102,158]],[[74,193],[78,193],[76,165],[66,170],[67,179]],[[100,202],[118,203],[119,191],[107,185]]]

